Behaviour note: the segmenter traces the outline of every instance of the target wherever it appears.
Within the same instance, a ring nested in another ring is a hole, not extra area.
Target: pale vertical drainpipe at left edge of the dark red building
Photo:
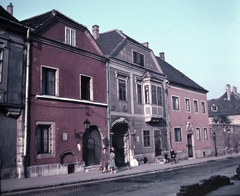
[[[24,115],[24,174],[27,168],[27,131],[28,131],[28,99],[29,99],[29,64],[30,64],[30,29],[27,30],[27,63],[26,63],[26,91],[25,91],[25,115]]]

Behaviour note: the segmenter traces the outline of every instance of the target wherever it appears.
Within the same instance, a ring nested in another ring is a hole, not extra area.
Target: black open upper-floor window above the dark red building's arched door
[[[81,99],[93,100],[92,98],[92,78],[89,76],[81,75]]]

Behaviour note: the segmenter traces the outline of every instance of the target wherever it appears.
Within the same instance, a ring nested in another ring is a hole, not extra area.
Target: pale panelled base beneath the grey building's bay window
[[[164,118],[162,106],[144,105],[145,122],[160,122]]]

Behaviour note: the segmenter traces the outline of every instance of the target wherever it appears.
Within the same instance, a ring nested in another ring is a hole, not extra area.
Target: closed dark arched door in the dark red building
[[[101,161],[101,136],[96,126],[91,126],[83,135],[83,161],[86,166],[99,165]]]

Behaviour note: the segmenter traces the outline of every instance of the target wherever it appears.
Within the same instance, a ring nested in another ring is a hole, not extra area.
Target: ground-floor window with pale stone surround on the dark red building
[[[54,155],[54,123],[37,122],[36,153],[37,155]]]

